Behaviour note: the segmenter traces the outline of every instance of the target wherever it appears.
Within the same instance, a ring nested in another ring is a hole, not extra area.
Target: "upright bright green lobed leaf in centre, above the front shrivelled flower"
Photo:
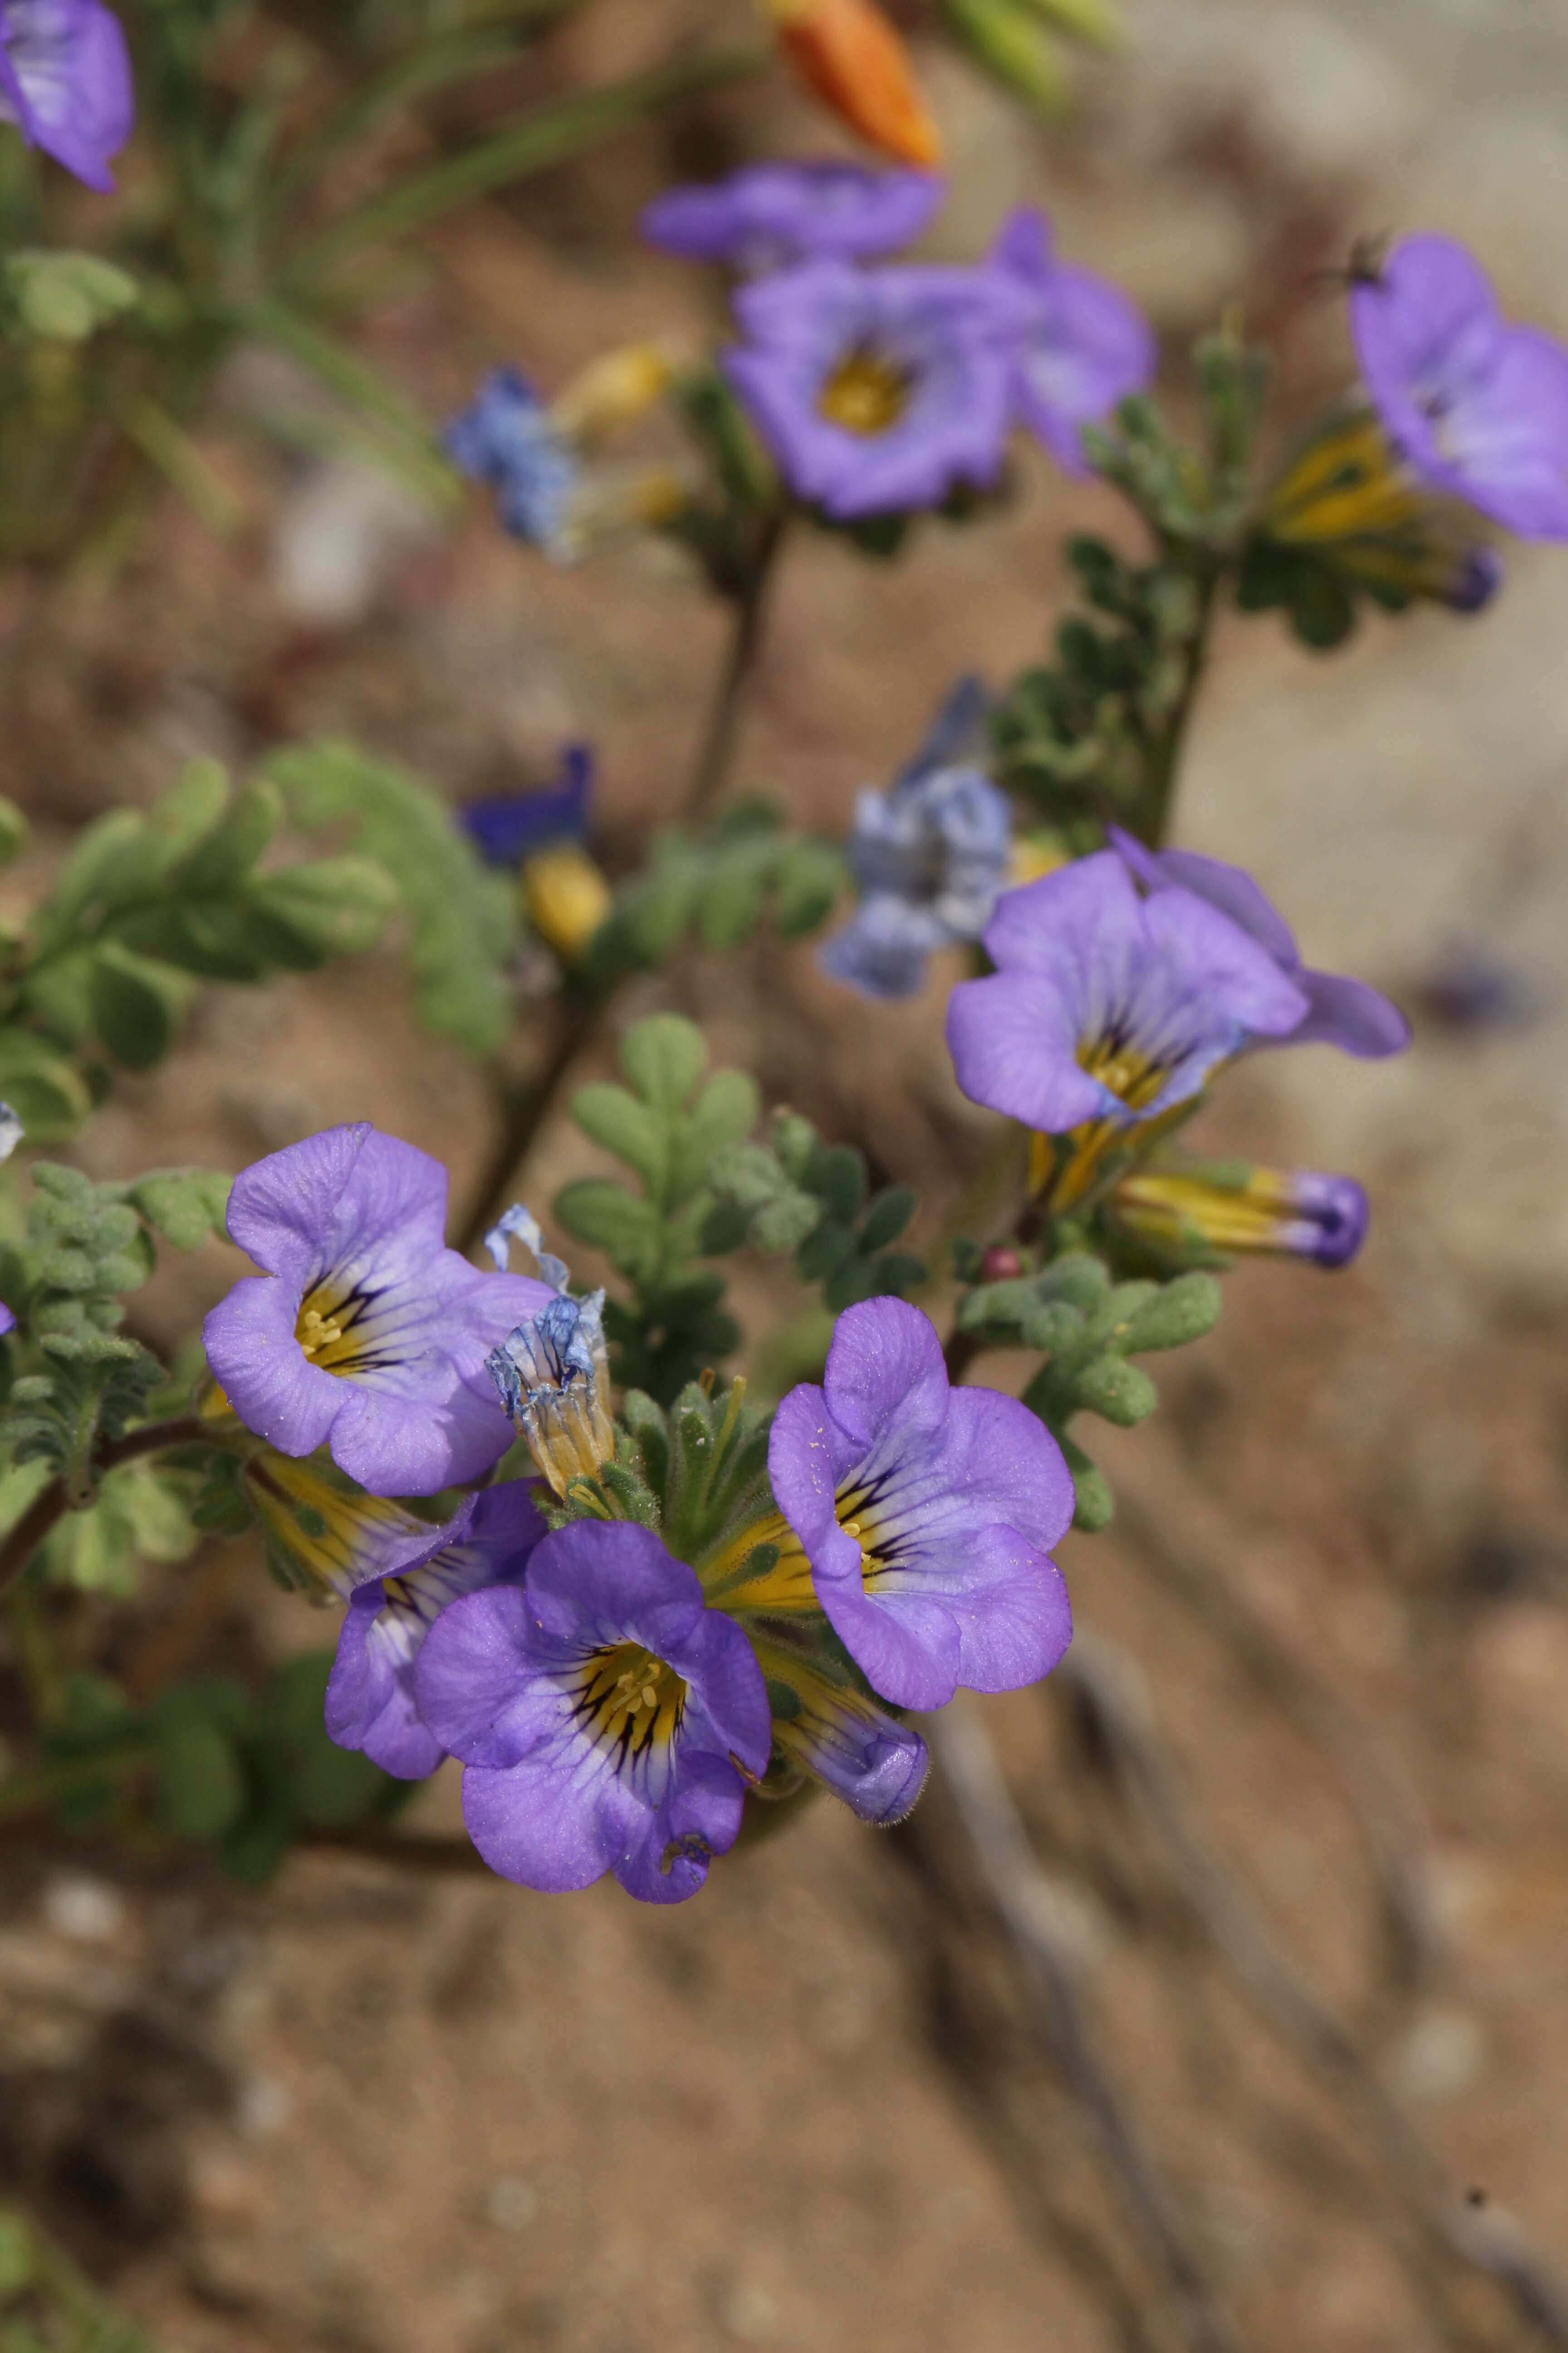
[[[616,1379],[668,1402],[741,1337],[719,1306],[724,1278],[693,1261],[733,1247],[715,1240],[708,1165],[757,1125],[759,1096],[743,1071],[701,1085],[708,1047],[679,1014],[637,1021],[616,1059],[628,1085],[583,1087],[571,1118],[637,1174],[639,1191],[578,1176],[555,1195],[555,1214],[630,1285],[630,1301],[604,1311]]]

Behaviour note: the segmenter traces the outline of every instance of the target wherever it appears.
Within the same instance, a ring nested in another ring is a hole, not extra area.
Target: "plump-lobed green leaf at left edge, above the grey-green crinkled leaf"
[[[162,1061],[197,981],[310,972],[381,936],[397,889],[369,859],[261,868],[282,816],[275,784],[235,791],[190,760],[150,809],[78,835],[0,979],[0,1096],[35,1141],[82,1125],[106,1064]]]

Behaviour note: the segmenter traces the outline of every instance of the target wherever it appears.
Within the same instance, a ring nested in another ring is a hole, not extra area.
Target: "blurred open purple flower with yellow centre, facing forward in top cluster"
[[[997,480],[1025,311],[997,271],[802,261],[741,287],[724,367],[799,499],[900,513]]]

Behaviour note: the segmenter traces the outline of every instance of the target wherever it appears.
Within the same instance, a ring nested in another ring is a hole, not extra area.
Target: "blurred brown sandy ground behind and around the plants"
[[[310,7],[275,14],[310,35]],[[1274,353],[1284,426],[1349,381],[1333,273],[1356,235],[1462,235],[1509,313],[1568,334],[1561,5],[1124,0],[1124,19],[1128,47],[1084,52],[1039,125],[903,12],[950,151],[931,254],[973,259],[1011,205],[1044,205],[1157,322],[1178,414],[1185,346],[1227,301]],[[585,0],[388,139],[423,155],[752,35],[726,0]],[[268,54],[247,38],[240,85]],[[701,341],[717,280],[642,247],[639,205],[837,148],[778,68],[698,94],[444,219],[346,341],[428,419],[496,360],[555,388],[609,344]],[[134,195],[134,151],[122,179]],[[0,579],[0,786],[33,824],[0,915],[73,828],[150,802],[183,758],[244,767],[308,734],[456,800],[545,781],[588,736],[611,842],[675,807],[724,633],[679,555],[637,541],[562,572],[480,504],[437,518],[362,452],[244,428],[313,386],[242,341],[190,419],[205,515],[162,487],[125,546]],[[926,527],[886,569],[802,536],[738,784],[842,833],[945,680],[1041,652],[1077,527],[1135,548],[1107,492],[1027,454],[999,520]],[[336,1852],[247,1894],[5,1826],[0,2186],[153,2344],[1568,2341],[1429,2228],[1469,2198],[1500,2245],[1509,2217],[1547,2254],[1568,2242],[1563,642],[1568,562],[1528,546],[1472,624],[1371,619],[1333,659],[1220,626],[1178,838],[1251,866],[1312,962],[1394,993],[1415,1049],[1260,1056],[1206,1118],[1220,1151],[1354,1169],[1373,1231],[1340,1275],[1227,1285],[1220,1329],[1161,1377],[1166,1412],[1105,1445],[1117,1525],[1065,1544],[1086,1654],[1098,1633],[1138,1661],[1124,1699],[1157,1744],[1154,1800],[1128,1795],[1081,1689],[987,1704],[1098,2049],[1234,2339],[1201,2334],[1180,2264],[1128,2214],[938,1784],[893,1833],[806,1809],[668,1915],[609,1882],[545,1899]],[[919,1186],[936,1233],[990,1134],[940,1052],[952,976],[865,1007],[769,939],[722,965],[689,951],[628,1019],[691,1014],[715,1061]],[[524,1021],[520,1073],[550,1019]],[[209,991],[68,1158],[233,1169],[327,1118],[440,1153],[463,1200],[494,1151],[482,1075],[416,1028],[390,948]],[[527,1198],[585,1165],[550,1125]],[[139,1329],[176,1337],[235,1271],[216,1242],[181,1261]],[[155,1572],[122,1621],[96,1609],[132,1692],[322,1640],[249,1546]],[[456,1826],[454,1772],[416,1824]],[[1291,2009],[1298,1981],[1338,2040]]]

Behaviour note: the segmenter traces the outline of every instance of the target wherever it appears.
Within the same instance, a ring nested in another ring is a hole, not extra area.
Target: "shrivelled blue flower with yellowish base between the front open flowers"
[[[496,1266],[505,1266],[510,1235],[534,1252],[550,1297],[491,1351],[489,1374],[512,1424],[529,1440],[534,1461],[552,1489],[567,1494],[574,1478],[592,1478],[616,1452],[604,1292],[581,1299],[567,1292],[567,1261],[543,1247],[538,1224],[522,1205],[508,1209],[484,1235]]]

